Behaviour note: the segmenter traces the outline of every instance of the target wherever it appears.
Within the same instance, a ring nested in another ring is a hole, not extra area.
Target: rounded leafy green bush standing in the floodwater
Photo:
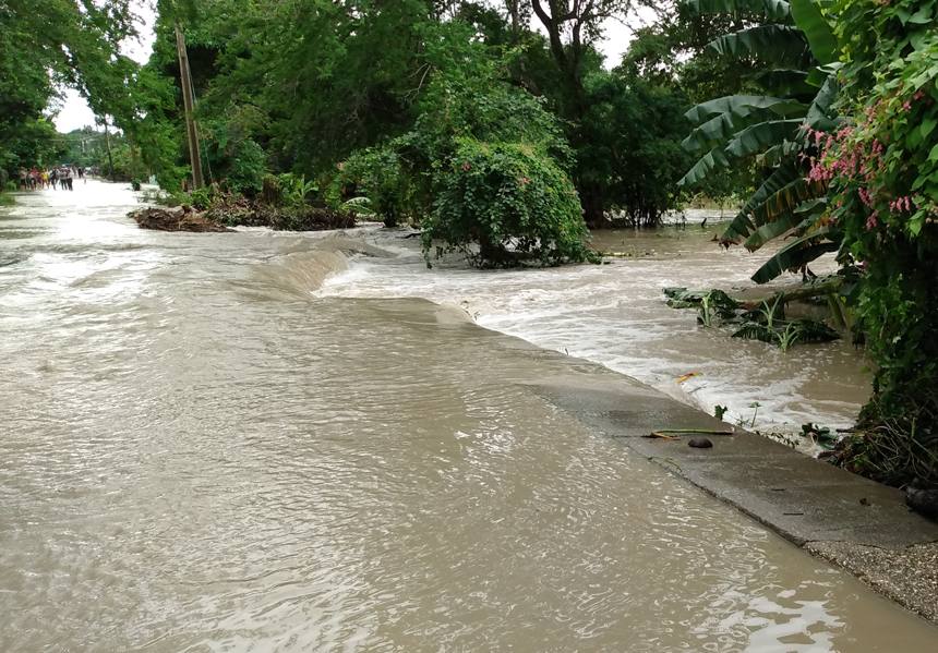
[[[329,201],[363,194],[387,225],[419,219],[428,265],[447,252],[480,266],[596,259],[557,121],[484,59],[470,65],[433,75],[414,129],[344,161]]]

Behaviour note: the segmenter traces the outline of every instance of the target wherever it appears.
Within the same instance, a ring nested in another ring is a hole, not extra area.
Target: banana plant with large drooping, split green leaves
[[[759,13],[773,24],[726,34],[708,47],[724,57],[749,57],[777,66],[756,82],[765,96],[737,95],[697,105],[687,118],[697,126],[682,144],[700,154],[678,182],[693,188],[735,162],[755,157],[771,169],[723,232],[723,242],[743,243],[755,252],[772,239],[792,233],[754,276],[765,283],[786,269],[837,251],[841,234],[829,225],[826,182],[808,179],[806,159],[815,152],[809,130],[829,132],[840,119],[832,111],[837,95],[839,46],[833,29],[813,0],[687,0],[701,15]]]

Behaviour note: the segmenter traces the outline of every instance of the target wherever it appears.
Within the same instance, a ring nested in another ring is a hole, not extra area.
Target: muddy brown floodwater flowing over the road
[[[528,292],[553,307],[512,328],[549,332],[569,277],[418,273],[376,231],[141,231],[133,195],[94,181],[20,199],[0,213],[2,651],[938,642],[543,403],[525,383],[557,364],[473,325],[467,298],[393,299],[471,279],[490,324]],[[374,299],[341,297],[368,278]],[[674,351],[693,330],[647,326]]]

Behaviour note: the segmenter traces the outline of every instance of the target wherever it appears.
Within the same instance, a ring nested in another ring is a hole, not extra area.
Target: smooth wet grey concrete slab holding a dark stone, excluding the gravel
[[[713,443],[710,449],[688,447],[690,436],[647,437],[660,428],[730,428],[651,388],[569,379],[529,387],[798,546],[841,541],[899,548],[938,541],[938,524],[910,512],[904,493],[767,437],[736,428],[734,435],[708,435]]]

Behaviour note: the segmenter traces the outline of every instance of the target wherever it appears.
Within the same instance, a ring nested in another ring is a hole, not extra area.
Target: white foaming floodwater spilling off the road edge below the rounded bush
[[[618,250],[638,254],[602,266],[479,270],[448,257],[428,269],[416,239],[373,228],[359,238],[396,256],[353,257],[316,294],[455,303],[480,326],[602,363],[707,412],[726,407],[727,422],[763,432],[799,432],[807,422],[849,426],[869,391],[865,363],[849,343],[781,352],[668,307],[665,287],[769,294],[797,285],[789,276],[754,289],[748,277],[770,252],[723,252],[709,235],[699,228],[600,234],[603,249],[616,251],[621,241]],[[700,375],[676,383],[690,373]]]

